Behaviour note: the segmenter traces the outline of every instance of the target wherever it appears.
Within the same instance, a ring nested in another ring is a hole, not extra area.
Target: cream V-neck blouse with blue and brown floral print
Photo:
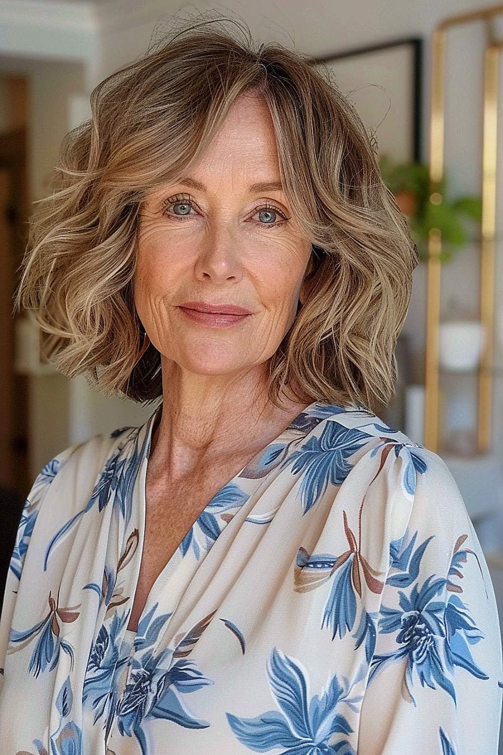
[[[439,458],[310,405],[207,504],[135,636],[152,424],[70,448],[32,488],[2,755],[495,755],[495,599]]]

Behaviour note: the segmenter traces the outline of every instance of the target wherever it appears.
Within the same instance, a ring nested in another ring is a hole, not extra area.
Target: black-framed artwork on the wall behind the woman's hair
[[[421,160],[422,39],[394,39],[319,58],[354,104],[379,154]]]

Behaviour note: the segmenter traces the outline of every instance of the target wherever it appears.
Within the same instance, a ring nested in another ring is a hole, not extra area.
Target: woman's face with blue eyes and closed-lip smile
[[[264,365],[296,316],[310,254],[268,107],[243,96],[201,159],[143,205],[134,300],[163,367],[230,376]]]

